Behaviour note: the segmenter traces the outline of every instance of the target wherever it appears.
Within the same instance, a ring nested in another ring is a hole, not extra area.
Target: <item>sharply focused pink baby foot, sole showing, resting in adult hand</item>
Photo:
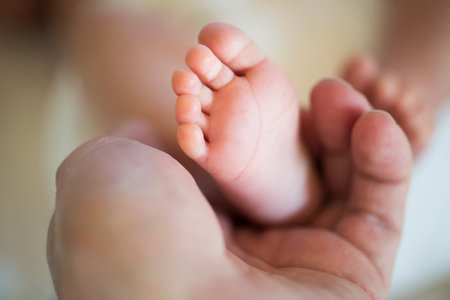
[[[210,24],[199,42],[186,55],[191,71],[173,75],[180,147],[253,220],[310,215],[320,195],[291,81],[233,26]]]

